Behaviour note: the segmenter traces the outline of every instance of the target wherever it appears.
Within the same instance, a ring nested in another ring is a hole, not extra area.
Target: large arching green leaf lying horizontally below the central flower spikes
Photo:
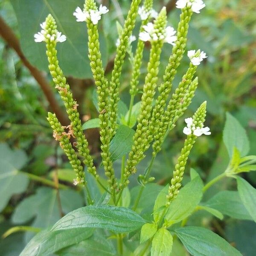
[[[70,212],[61,218],[52,230],[73,227],[98,227],[115,232],[131,232],[139,229],[145,220],[131,209],[108,205],[90,205]]]

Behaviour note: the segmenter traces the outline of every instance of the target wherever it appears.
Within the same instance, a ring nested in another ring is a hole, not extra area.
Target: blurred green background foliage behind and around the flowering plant
[[[100,23],[103,60],[106,73],[110,76],[117,39],[116,21],[123,24],[131,1],[101,2],[111,10]],[[180,10],[172,8],[175,1],[154,2],[157,10],[167,4],[169,23],[177,28]],[[189,157],[187,169],[192,167],[204,180],[210,180],[223,172],[229,161],[222,143],[227,111],[246,129],[250,140],[249,154],[256,153],[256,1],[205,0],[205,3],[207,7],[201,14],[194,14],[192,17],[187,49],[200,48],[209,57],[198,67],[199,88],[185,116],[191,116],[198,105],[207,100],[206,125],[211,128],[212,135],[198,138]],[[52,92],[54,86],[47,72],[45,46],[35,44],[33,35],[49,12],[57,18],[58,29],[68,38],[67,42],[58,46],[60,64],[74,97],[79,102],[82,122],[85,122],[96,118],[98,112],[94,105],[95,87],[87,58],[86,25],[76,23],[72,16],[76,6],[82,4],[83,0],[68,0],[65,4],[61,0],[0,0],[0,16],[19,39],[25,58],[43,72]],[[139,26],[138,22],[134,31],[136,36]],[[132,45],[135,48],[136,43]],[[163,74],[170,53],[170,46],[165,45],[161,55],[160,75]],[[148,55],[149,46],[146,45],[140,87],[143,86]],[[2,38],[0,56],[0,235],[17,225],[24,225],[28,230],[0,240],[0,255],[11,256],[20,252],[37,228],[55,223],[61,215],[81,207],[86,202],[83,191],[72,186],[73,172],[63,151],[52,138],[52,131],[46,120],[51,105],[45,93],[23,65],[17,52],[12,49],[10,42]],[[173,89],[186,72],[188,64],[189,59],[185,56],[178,69]],[[131,76],[128,58],[123,70],[121,99],[127,107],[130,101],[128,87]],[[58,94],[54,92],[54,95],[64,112]],[[137,96],[137,101],[140,96],[141,94]],[[161,185],[169,181],[183,145],[183,119],[178,121],[177,127],[167,137],[163,151],[154,163],[153,175]],[[99,164],[99,131],[97,128],[88,129],[86,136],[95,161]],[[9,164],[6,164],[6,160],[9,160]],[[147,161],[146,157],[139,164],[138,173],[144,170]],[[117,160],[114,165],[119,170],[121,160]],[[8,175],[3,175],[6,173]],[[244,178],[256,185],[255,172],[244,175]],[[54,188],[58,185],[58,179],[63,187],[56,190]],[[137,186],[136,177],[133,177],[132,186]],[[235,190],[232,181],[227,183],[224,180],[209,189],[206,197],[214,195],[217,188]],[[236,244],[243,255],[255,255],[254,222],[228,217],[219,221],[202,212],[193,215],[190,222],[192,225],[212,228]]]

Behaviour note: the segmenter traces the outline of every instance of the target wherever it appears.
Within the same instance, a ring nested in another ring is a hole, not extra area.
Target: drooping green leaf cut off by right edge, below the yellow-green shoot
[[[256,222],[256,189],[239,176],[237,176],[236,180],[241,201]]]

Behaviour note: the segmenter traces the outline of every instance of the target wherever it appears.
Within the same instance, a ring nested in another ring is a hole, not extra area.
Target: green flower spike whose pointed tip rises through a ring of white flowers
[[[143,87],[143,95],[141,102],[141,111],[138,117],[137,130],[134,134],[134,145],[129,153],[127,165],[125,167],[125,182],[127,185],[128,177],[131,173],[136,172],[135,166],[143,159],[143,152],[148,148],[149,131],[148,120],[151,116],[152,102],[155,94],[155,87],[157,86],[158,67],[160,63],[160,54],[163,47],[163,39],[161,35],[165,34],[166,30],[166,8],[163,8],[157,19],[154,21],[154,34],[159,35],[158,40],[151,40],[151,51],[148,62],[148,74],[145,78],[145,85]],[[153,26],[153,25],[152,25]],[[152,33],[153,33],[152,32]]]

